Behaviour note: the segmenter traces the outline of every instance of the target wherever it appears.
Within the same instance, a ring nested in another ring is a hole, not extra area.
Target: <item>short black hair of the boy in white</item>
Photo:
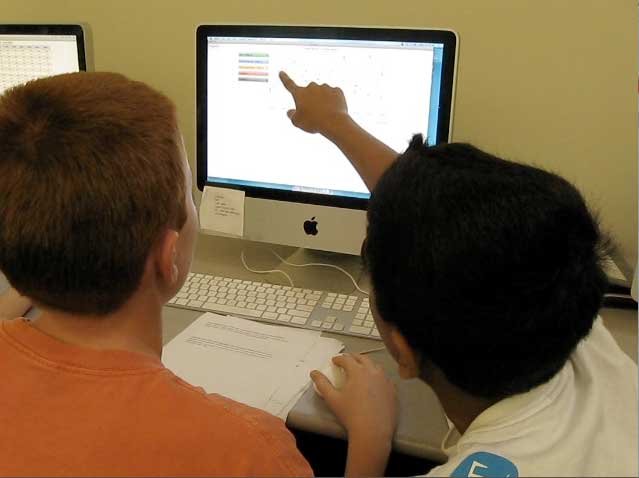
[[[589,333],[607,244],[565,179],[417,135],[372,193],[364,254],[382,319],[498,399],[549,380]]]

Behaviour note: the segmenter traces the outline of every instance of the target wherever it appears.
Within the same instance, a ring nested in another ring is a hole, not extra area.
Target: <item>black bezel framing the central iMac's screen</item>
[[[439,97],[438,128],[435,144],[445,143],[449,140],[457,60],[457,35],[451,30],[286,25],[200,25],[196,31],[196,158],[197,186],[200,191],[204,190],[204,186],[218,186],[243,190],[246,196],[253,198],[362,210],[367,208],[369,201],[364,198],[262,188],[208,180],[206,75],[208,63],[207,37],[209,36],[442,43],[444,44],[441,79],[442,88]],[[410,132],[407,134],[410,134]]]

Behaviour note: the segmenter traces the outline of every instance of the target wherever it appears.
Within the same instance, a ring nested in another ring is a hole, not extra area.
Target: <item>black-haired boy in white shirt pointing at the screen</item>
[[[350,118],[341,90],[281,79],[293,124],[335,143],[372,191],[375,322],[400,376],[429,384],[458,432],[429,475],[636,476],[637,366],[597,317],[604,241],[579,192],[467,144],[416,136],[398,157]],[[312,378],[350,434],[358,403],[392,402],[362,394],[361,358],[334,361],[341,390]],[[392,409],[368,426],[381,473]]]

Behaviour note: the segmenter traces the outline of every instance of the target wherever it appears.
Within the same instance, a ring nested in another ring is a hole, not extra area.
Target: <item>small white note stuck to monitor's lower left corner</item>
[[[200,228],[222,236],[244,235],[244,191],[204,187],[200,203]]]

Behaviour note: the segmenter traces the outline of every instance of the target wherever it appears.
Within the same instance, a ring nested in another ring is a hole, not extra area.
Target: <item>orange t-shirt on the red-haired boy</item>
[[[284,423],[159,359],[0,321],[0,475],[312,475]]]

